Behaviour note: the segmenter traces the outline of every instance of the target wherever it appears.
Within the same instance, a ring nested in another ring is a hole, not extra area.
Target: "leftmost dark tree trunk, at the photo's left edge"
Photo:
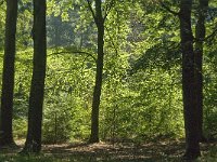
[[[14,144],[12,133],[17,0],[7,0],[5,41],[1,93],[0,146]]]

